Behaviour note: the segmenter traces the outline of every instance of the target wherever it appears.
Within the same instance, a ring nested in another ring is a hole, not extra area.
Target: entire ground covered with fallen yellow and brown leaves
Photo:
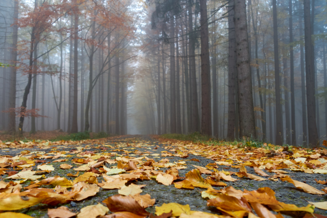
[[[326,164],[323,148],[158,136],[0,143],[0,218],[327,217]]]

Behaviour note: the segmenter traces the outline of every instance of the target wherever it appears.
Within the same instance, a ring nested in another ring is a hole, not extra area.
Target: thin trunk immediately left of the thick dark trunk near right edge
[[[303,36],[302,17],[300,16],[300,37]],[[300,66],[301,66],[301,97],[302,97],[302,135],[303,146],[306,146],[308,140],[307,127],[307,100],[306,100],[306,76],[305,76],[305,52],[303,43],[300,43]]]

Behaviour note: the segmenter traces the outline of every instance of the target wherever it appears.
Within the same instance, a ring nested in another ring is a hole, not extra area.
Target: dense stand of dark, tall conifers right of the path
[[[327,130],[325,10],[316,0],[152,1],[146,124],[316,146]]]

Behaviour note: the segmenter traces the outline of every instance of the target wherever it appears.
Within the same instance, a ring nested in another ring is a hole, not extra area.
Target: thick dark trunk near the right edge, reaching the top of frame
[[[316,124],[315,111],[315,75],[313,66],[313,45],[311,38],[311,20],[310,20],[310,0],[304,0],[305,13],[305,48],[306,48],[306,81],[307,81],[307,109],[308,109],[308,129],[309,129],[309,147],[317,147],[318,132]]]

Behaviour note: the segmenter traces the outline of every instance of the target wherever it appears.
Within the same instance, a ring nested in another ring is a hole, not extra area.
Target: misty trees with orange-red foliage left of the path
[[[2,62],[12,67],[2,74],[2,128],[19,134],[37,127],[126,134],[125,65],[136,54],[131,42],[138,17],[129,9],[133,3],[5,4]],[[31,117],[29,124],[26,117]]]

